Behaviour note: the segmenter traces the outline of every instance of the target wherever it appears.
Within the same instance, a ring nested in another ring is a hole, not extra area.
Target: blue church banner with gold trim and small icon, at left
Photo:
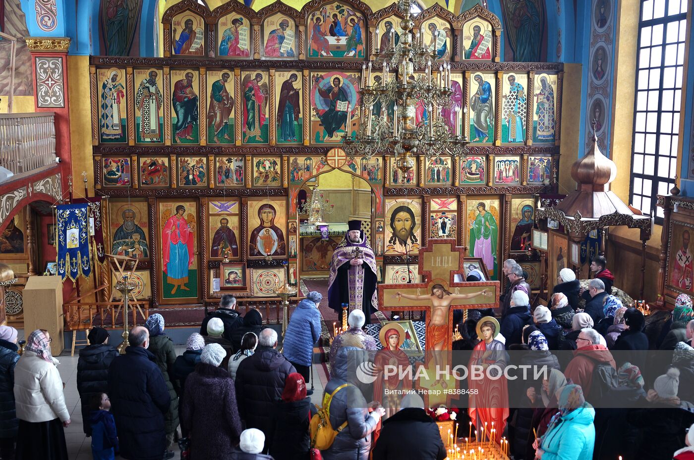
[[[88,204],[59,204],[56,214],[58,227],[58,276],[76,281],[78,276],[89,278],[92,262],[89,249]]]

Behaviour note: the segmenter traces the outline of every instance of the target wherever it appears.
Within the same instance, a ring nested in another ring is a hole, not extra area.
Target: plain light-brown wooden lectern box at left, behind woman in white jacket
[[[29,276],[24,297],[24,337],[33,330],[45,329],[51,335],[51,354],[62,353],[62,281],[60,276]]]

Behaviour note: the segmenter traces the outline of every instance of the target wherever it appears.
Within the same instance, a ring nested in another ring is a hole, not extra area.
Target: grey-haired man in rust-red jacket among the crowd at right
[[[566,380],[580,385],[584,396],[590,400],[593,371],[600,363],[608,363],[617,369],[612,353],[607,346],[600,345],[600,334],[595,329],[583,328],[576,339],[577,349],[573,352],[573,360],[566,366]]]

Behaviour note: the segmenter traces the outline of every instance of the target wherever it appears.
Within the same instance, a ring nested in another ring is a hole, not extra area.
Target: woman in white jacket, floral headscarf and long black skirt
[[[19,418],[15,458],[67,460],[63,429],[70,424],[70,413],[46,330],[37,329],[26,339],[15,366],[15,403]]]

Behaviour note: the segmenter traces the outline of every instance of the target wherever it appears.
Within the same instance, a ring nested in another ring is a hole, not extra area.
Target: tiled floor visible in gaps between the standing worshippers
[[[185,351],[185,346],[176,347],[176,353],[178,355],[183,354],[183,351]],[[70,419],[72,421],[70,426],[65,429],[67,453],[71,460],[91,460],[91,439],[85,437],[83,432],[80,396],[77,392],[77,351],[74,357],[71,357],[69,353],[67,353],[67,355],[59,356],[58,360],[60,360],[58,371],[60,371],[62,381],[65,382],[65,403],[67,404],[67,409],[70,411]],[[326,380],[325,374],[323,373],[323,366],[314,365],[314,377],[315,382],[312,401],[314,404],[320,404],[321,398],[323,397],[323,384]],[[176,453],[174,459],[179,460],[180,452],[178,446],[174,447],[174,452]]]

